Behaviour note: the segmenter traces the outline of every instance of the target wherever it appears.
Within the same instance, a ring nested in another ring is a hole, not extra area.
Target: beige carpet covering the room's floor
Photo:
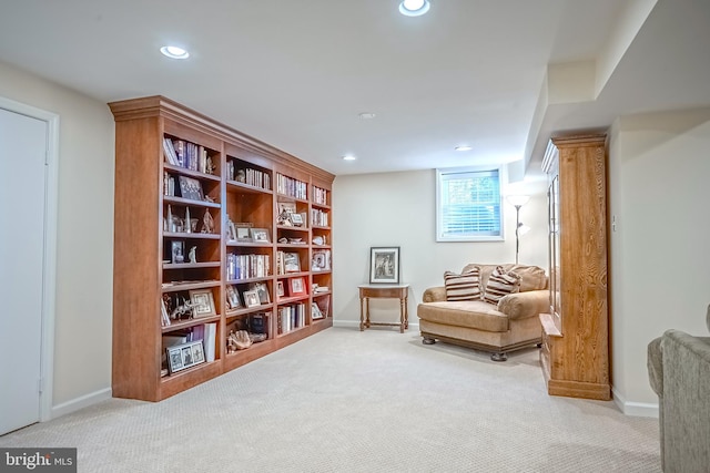
[[[660,472],[658,420],[549,397],[537,349],[495,363],[417,332],[332,328],[160,403],[112,399],[0,436],[80,472]]]

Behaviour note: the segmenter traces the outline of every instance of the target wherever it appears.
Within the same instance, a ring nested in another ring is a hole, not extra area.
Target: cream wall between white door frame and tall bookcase
[[[61,414],[110,397],[113,117],[106,104],[2,62],[0,96],[60,116],[52,405]]]

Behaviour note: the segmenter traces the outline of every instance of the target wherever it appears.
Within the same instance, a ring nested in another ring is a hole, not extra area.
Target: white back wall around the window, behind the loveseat
[[[520,222],[531,227],[520,239],[520,263],[547,267],[547,197],[544,183],[516,186],[530,202]],[[427,287],[442,286],[444,271],[468,263],[515,261],[515,208],[504,206],[505,241],[436,243],[434,169],[336,177],[333,185],[334,321],[359,322],[357,286],[369,279],[369,248],[400,247],[400,280],[408,282],[409,321],[416,330],[416,305]],[[397,321],[398,305],[374,300],[373,319]]]

